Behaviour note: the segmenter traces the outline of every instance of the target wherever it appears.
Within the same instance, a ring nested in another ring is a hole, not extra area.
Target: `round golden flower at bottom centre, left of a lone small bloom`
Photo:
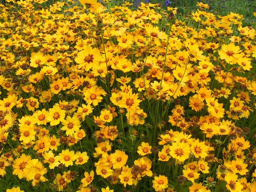
[[[116,150],[115,153],[110,155],[111,162],[113,163],[113,169],[120,169],[125,166],[128,155],[124,151]]]

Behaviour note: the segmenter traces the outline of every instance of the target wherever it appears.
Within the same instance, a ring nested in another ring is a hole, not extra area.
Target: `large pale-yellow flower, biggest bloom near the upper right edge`
[[[224,59],[227,63],[235,64],[241,56],[240,52],[241,50],[239,46],[230,43],[228,45],[222,45],[221,50],[218,51],[218,54],[220,55],[220,58]]]

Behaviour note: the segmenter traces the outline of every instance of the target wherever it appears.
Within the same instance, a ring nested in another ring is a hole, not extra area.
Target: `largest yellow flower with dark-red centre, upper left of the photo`
[[[75,61],[78,65],[78,69],[83,68],[85,71],[89,71],[94,65],[99,64],[102,56],[97,48],[90,46],[84,46],[84,49],[77,54]]]

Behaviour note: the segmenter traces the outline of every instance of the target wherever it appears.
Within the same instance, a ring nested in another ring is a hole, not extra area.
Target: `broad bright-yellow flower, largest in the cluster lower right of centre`
[[[190,147],[188,143],[172,143],[169,154],[179,160],[184,161],[189,158]]]

